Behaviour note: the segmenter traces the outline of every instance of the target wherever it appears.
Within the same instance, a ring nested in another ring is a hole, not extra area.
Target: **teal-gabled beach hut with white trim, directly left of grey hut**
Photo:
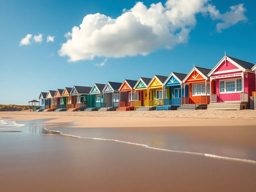
[[[92,105],[93,110],[106,108],[106,103],[104,103],[104,98],[103,98],[104,87],[105,87],[105,84],[99,84],[99,83],[95,83],[92,86],[90,94],[92,95],[92,98],[94,95],[94,104]]]

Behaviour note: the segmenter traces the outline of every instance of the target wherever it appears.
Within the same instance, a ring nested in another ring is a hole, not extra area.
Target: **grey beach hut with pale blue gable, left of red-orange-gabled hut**
[[[122,83],[110,82],[108,81],[103,88],[103,98],[104,103],[106,103],[106,108],[101,108],[100,110],[116,110],[119,107],[119,101],[125,101],[126,94],[119,93],[119,88]],[[120,95],[119,95],[120,94]],[[119,98],[120,97],[120,98]]]

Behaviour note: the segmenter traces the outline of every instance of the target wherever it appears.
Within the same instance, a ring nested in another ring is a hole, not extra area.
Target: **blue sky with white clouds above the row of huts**
[[[1,1],[0,104],[123,82],[226,55],[256,64],[255,1]]]

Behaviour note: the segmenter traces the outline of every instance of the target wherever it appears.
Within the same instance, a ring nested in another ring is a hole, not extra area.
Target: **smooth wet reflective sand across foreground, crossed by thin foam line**
[[[256,160],[255,126],[37,126],[46,125],[43,119],[22,123],[32,125],[8,129],[23,132],[0,133],[3,191],[256,191],[255,163],[42,133],[46,128],[80,137]]]

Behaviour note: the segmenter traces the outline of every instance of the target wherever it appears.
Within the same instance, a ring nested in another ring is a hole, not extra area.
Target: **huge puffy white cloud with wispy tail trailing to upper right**
[[[230,12],[221,15],[209,2],[167,0],[164,6],[159,2],[149,8],[137,2],[130,10],[123,9],[116,19],[100,13],[86,15],[80,27],[74,26],[72,33],[65,34],[68,39],[62,44],[59,55],[68,56],[69,61],[145,56],[155,49],[173,49],[177,44],[186,44],[199,13],[210,13],[212,19],[221,20],[223,23],[216,27],[218,31],[245,17],[243,6],[231,6]],[[232,20],[231,15],[237,19]]]

